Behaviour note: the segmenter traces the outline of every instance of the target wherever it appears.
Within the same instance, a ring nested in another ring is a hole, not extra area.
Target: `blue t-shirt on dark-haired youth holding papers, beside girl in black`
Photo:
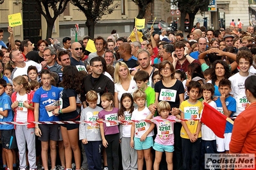
[[[51,86],[49,91],[45,91],[42,87],[35,91],[32,102],[39,104],[39,118],[38,121],[58,121],[58,116],[49,117],[46,106],[49,104],[55,104],[60,99],[60,89],[55,86]]]

